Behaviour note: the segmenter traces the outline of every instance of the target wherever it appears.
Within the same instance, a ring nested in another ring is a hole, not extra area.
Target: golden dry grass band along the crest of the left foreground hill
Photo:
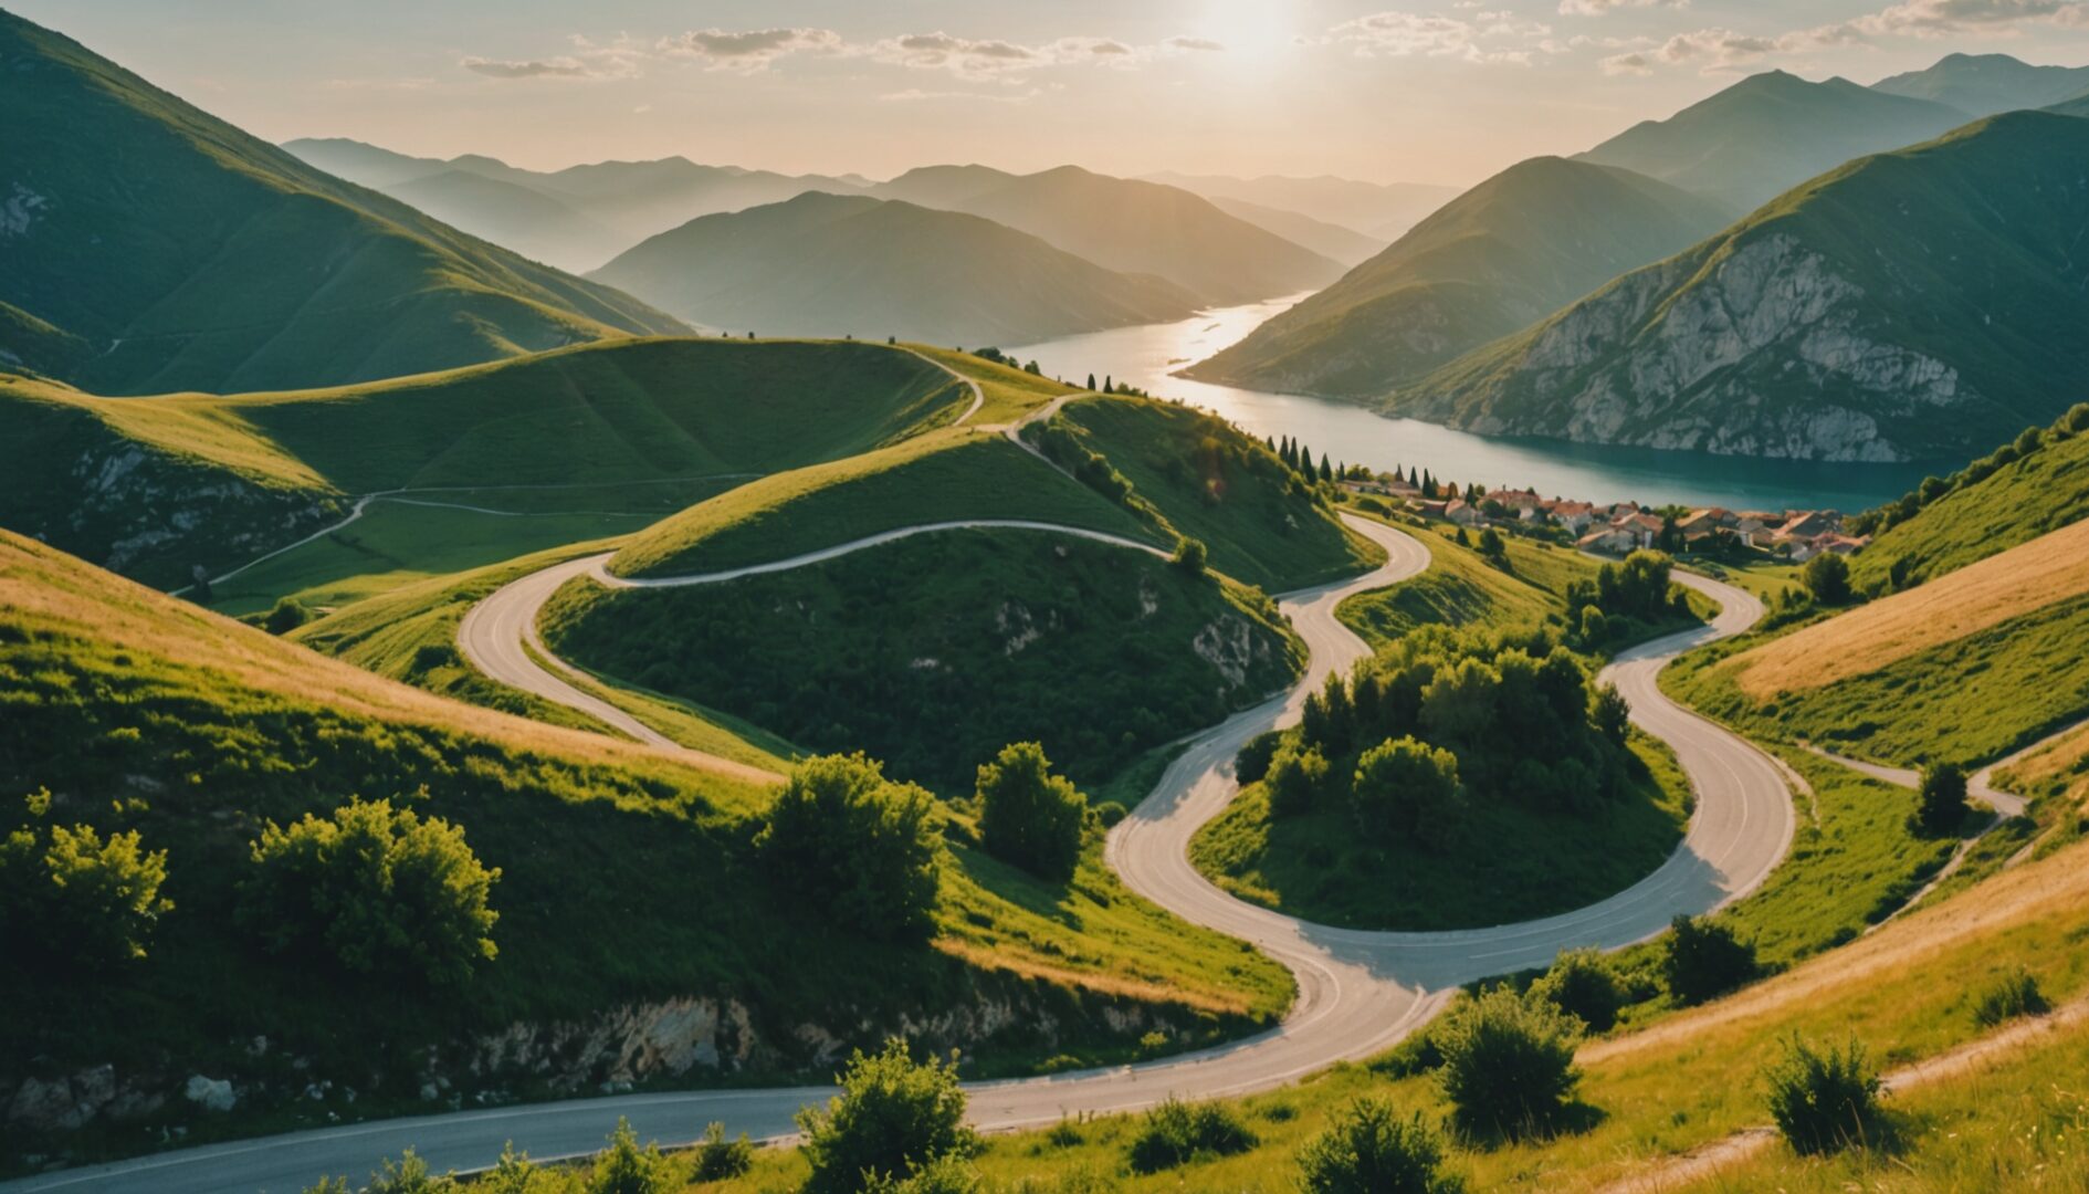
[[[0,611],[21,611],[29,619],[119,648],[211,669],[263,692],[345,713],[472,734],[585,763],[689,765],[687,759],[652,747],[543,726],[372,675],[10,531],[0,531]],[[737,782],[756,776],[750,767],[729,767],[733,770],[719,774]]]

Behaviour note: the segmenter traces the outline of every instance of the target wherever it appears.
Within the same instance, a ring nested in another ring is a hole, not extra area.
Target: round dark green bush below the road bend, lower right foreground
[[[1517,1140],[1552,1127],[1581,1081],[1573,1064],[1581,1023],[1550,1000],[1496,987],[1454,1008],[1431,1035],[1452,1117],[1477,1135]]]

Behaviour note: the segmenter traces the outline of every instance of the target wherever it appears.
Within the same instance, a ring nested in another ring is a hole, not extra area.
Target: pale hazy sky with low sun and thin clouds
[[[1763,69],[2089,63],[2089,0],[0,2],[269,140],[535,169],[683,155],[1462,186]]]

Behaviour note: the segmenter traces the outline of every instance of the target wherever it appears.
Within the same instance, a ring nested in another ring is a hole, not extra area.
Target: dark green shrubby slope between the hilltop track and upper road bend
[[[1170,537],[1203,542],[1214,569],[1268,592],[1310,588],[1383,560],[1377,546],[1345,531],[1295,483],[1264,443],[1201,410],[1078,397],[1034,427],[1032,439],[1076,473],[1074,450],[1099,456],[1130,487],[1126,508]],[[1097,483],[1101,470],[1084,477]]]

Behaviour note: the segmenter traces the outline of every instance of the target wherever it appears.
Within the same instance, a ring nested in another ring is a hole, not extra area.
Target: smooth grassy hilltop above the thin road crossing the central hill
[[[965,519],[1030,519],[1174,546],[1005,437],[948,429],[742,485],[633,535],[610,567],[633,577],[694,575]]]

